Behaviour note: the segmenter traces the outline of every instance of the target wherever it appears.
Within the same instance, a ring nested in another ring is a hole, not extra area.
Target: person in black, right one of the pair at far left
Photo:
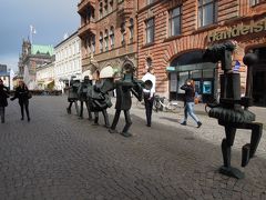
[[[19,87],[16,88],[14,97],[10,100],[13,101],[14,99],[19,99],[19,106],[21,110],[21,120],[24,120],[24,110],[27,113],[28,121],[30,121],[30,113],[29,113],[29,89],[23,81],[19,81]]]

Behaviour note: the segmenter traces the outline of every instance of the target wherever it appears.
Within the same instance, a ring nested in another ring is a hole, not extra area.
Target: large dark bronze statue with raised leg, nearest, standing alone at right
[[[225,138],[222,141],[222,152],[224,166],[219,172],[237,179],[244,178],[244,173],[231,166],[231,150],[234,144],[236,129],[250,129],[250,143],[242,148],[242,167],[246,167],[249,159],[256,152],[262,137],[263,124],[255,121],[255,114],[248,110],[252,106],[252,66],[256,62],[255,54],[246,54],[243,59],[248,67],[247,90],[245,97],[241,97],[241,77],[239,73],[232,70],[232,52],[236,43],[228,41],[222,44],[214,44],[204,53],[204,58],[212,62],[222,62],[221,74],[221,99],[219,103],[212,104],[208,112],[211,118],[216,118],[218,124],[225,127]],[[243,108],[244,107],[244,108]]]

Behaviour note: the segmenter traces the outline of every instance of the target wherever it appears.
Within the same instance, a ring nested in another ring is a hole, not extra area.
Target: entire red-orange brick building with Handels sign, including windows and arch
[[[248,51],[258,54],[253,98],[255,104],[266,106],[265,0],[140,0],[137,7],[139,76],[152,64],[158,93],[182,98],[180,87],[187,78],[195,80],[203,100],[217,93],[218,64],[204,62],[202,54],[208,46],[232,39],[238,42],[233,60],[241,63],[243,87],[242,59]]]

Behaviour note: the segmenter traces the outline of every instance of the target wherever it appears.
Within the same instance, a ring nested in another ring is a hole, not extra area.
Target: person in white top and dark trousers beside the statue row
[[[152,108],[153,108],[153,101],[154,101],[154,94],[155,94],[155,84],[156,84],[156,77],[154,76],[154,68],[150,67],[147,69],[146,74],[142,78],[143,82],[151,81],[152,87],[151,89],[143,89],[144,93],[144,102],[145,102],[145,112],[146,112],[146,126],[152,126]]]

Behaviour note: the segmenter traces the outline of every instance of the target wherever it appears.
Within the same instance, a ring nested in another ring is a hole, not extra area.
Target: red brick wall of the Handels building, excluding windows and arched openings
[[[151,58],[157,77],[156,88],[158,93],[170,94],[170,73],[166,68],[170,67],[172,61],[191,51],[204,51],[212,43],[227,39],[238,42],[233,59],[238,60],[242,64],[239,71],[242,73],[242,84],[245,84],[246,68],[242,62],[245,52],[254,48],[266,47],[266,2],[262,1],[255,6],[249,4],[250,0],[218,0],[213,2],[217,3],[215,22],[198,27],[197,13],[201,8],[197,0],[158,0],[151,4],[146,4],[146,1],[139,1],[139,74],[140,77],[143,76],[146,59]],[[182,10],[181,34],[168,37],[170,13],[172,9],[177,7],[181,7]],[[151,18],[155,20],[154,42],[146,44],[146,20]],[[242,26],[242,30],[238,32],[236,30],[234,33],[224,33],[227,36],[226,39],[221,36],[222,33],[218,33],[219,36],[215,34],[215,32],[228,31],[237,26]],[[243,30],[243,26],[252,28],[244,27]],[[208,36],[216,36],[217,40],[214,41]],[[217,79],[217,74],[214,74],[214,79]],[[263,79],[266,87],[266,72]],[[217,80],[215,82],[217,83]],[[266,96],[264,98],[266,103]]]

